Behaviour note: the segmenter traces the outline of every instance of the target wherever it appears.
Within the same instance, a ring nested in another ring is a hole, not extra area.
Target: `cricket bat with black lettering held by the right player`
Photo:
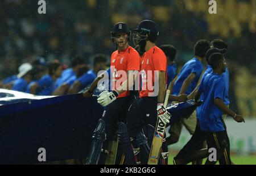
[[[169,95],[170,95],[170,90],[167,90],[166,98],[164,99],[164,107],[167,106]],[[154,137],[153,137],[153,141],[150,149],[150,154],[148,157],[148,162],[147,162],[148,165],[158,164],[165,129],[166,129],[166,125],[163,123],[161,119],[158,118],[158,120],[156,121],[155,133],[154,133]]]

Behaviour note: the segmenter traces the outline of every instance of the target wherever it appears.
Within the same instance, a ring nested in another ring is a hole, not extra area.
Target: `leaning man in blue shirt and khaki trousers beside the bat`
[[[168,89],[172,92],[172,95],[189,95],[192,90],[195,89],[201,73],[203,72],[204,67],[202,62],[205,59],[205,53],[209,48],[210,43],[207,40],[199,40],[196,42],[194,47],[195,57],[185,63],[180,73],[170,83]],[[166,139],[168,145],[177,143],[183,125],[192,135],[196,129],[196,113],[194,112],[188,119],[177,121],[177,123],[170,127],[170,136]]]

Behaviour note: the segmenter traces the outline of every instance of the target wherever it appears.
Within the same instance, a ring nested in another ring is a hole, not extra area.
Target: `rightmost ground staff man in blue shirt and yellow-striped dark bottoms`
[[[222,123],[222,114],[232,116],[234,120],[245,122],[241,115],[237,115],[224,103],[226,87],[224,78],[221,76],[225,72],[226,62],[221,53],[213,53],[209,57],[209,64],[213,72],[205,76],[196,93],[195,100],[204,95],[204,103],[201,105],[200,128],[205,133],[208,149],[217,149],[217,161],[220,164],[231,164],[229,153],[226,148],[228,134]],[[216,164],[217,161],[207,160],[205,164]]]

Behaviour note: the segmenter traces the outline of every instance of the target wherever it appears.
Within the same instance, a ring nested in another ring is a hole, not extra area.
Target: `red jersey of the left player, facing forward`
[[[112,89],[116,90],[126,81],[129,70],[139,71],[141,56],[133,47],[127,47],[125,51],[114,51],[111,56]],[[129,91],[124,91],[117,98],[127,97]]]

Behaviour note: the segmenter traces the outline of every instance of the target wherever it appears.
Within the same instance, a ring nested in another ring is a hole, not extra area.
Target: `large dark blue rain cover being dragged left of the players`
[[[88,156],[103,111],[96,99],[73,94],[2,102],[0,164],[35,164],[39,148],[46,149],[46,161]]]

